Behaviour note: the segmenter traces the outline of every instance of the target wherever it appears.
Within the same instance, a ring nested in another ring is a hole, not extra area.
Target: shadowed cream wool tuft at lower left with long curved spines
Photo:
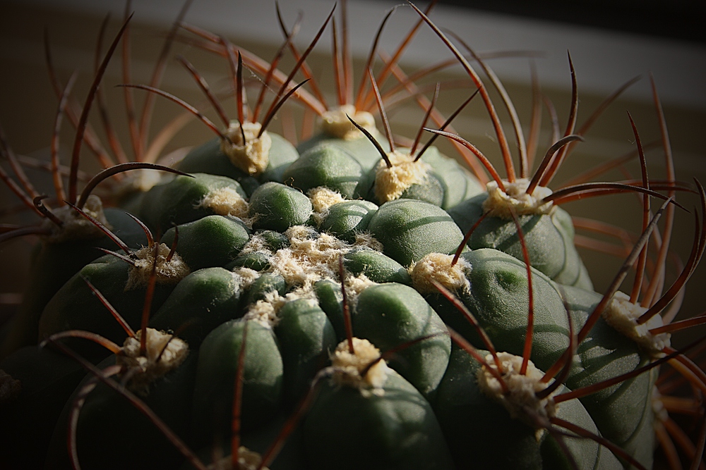
[[[135,337],[128,337],[116,356],[116,364],[128,373],[128,388],[140,395],[147,396],[150,384],[169,371],[177,369],[189,354],[189,345],[174,335],[154,328],[145,330],[145,355],[140,354],[142,330]]]

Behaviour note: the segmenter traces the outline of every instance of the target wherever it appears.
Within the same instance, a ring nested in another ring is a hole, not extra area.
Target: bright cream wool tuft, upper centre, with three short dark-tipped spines
[[[388,159],[391,167],[381,160],[375,170],[375,196],[380,202],[399,199],[410,186],[429,178],[431,166],[421,160],[414,161],[409,154],[393,151],[388,154]]]

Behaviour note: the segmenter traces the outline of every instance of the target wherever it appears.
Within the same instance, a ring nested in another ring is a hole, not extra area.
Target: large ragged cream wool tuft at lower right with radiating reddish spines
[[[554,394],[550,394],[541,400],[537,398],[536,393],[544,390],[549,384],[542,383],[540,380],[544,373],[529,361],[527,364],[527,373],[520,374],[522,367],[522,357],[509,354],[508,352],[498,352],[502,369],[500,376],[503,378],[505,385],[508,387],[508,392],[503,393],[501,383],[493,377],[493,375],[482,366],[478,369],[476,378],[478,386],[487,397],[492,398],[500,403],[508,410],[510,416],[514,419],[524,421],[532,428],[536,427],[536,420],[532,416],[528,416],[527,410],[530,410],[535,416],[541,416],[544,419],[549,419],[556,416],[558,405],[554,402]],[[485,361],[488,367],[498,370],[493,359],[493,354],[487,354]],[[544,420],[543,420],[544,421]],[[542,429],[537,430],[537,439],[542,436]]]

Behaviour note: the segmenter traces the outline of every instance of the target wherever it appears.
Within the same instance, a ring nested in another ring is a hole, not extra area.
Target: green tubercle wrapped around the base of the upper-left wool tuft
[[[215,137],[195,147],[179,162],[177,169],[185,173],[208,173],[232,178],[240,183],[250,195],[265,181],[282,183],[282,173],[290,163],[299,158],[299,152],[284,137],[268,132],[272,137],[268,167],[257,178],[237,168],[220,149],[220,137]]]

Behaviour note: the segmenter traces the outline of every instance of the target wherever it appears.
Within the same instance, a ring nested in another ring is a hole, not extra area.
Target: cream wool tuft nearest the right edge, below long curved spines
[[[671,345],[671,335],[669,333],[659,333],[658,335],[650,333],[652,328],[664,326],[662,317],[659,315],[655,315],[639,325],[638,319],[645,311],[647,308],[633,304],[628,295],[618,291],[603,311],[602,316],[606,323],[635,341],[642,350],[651,354],[652,357],[662,357],[664,356],[662,350]]]

